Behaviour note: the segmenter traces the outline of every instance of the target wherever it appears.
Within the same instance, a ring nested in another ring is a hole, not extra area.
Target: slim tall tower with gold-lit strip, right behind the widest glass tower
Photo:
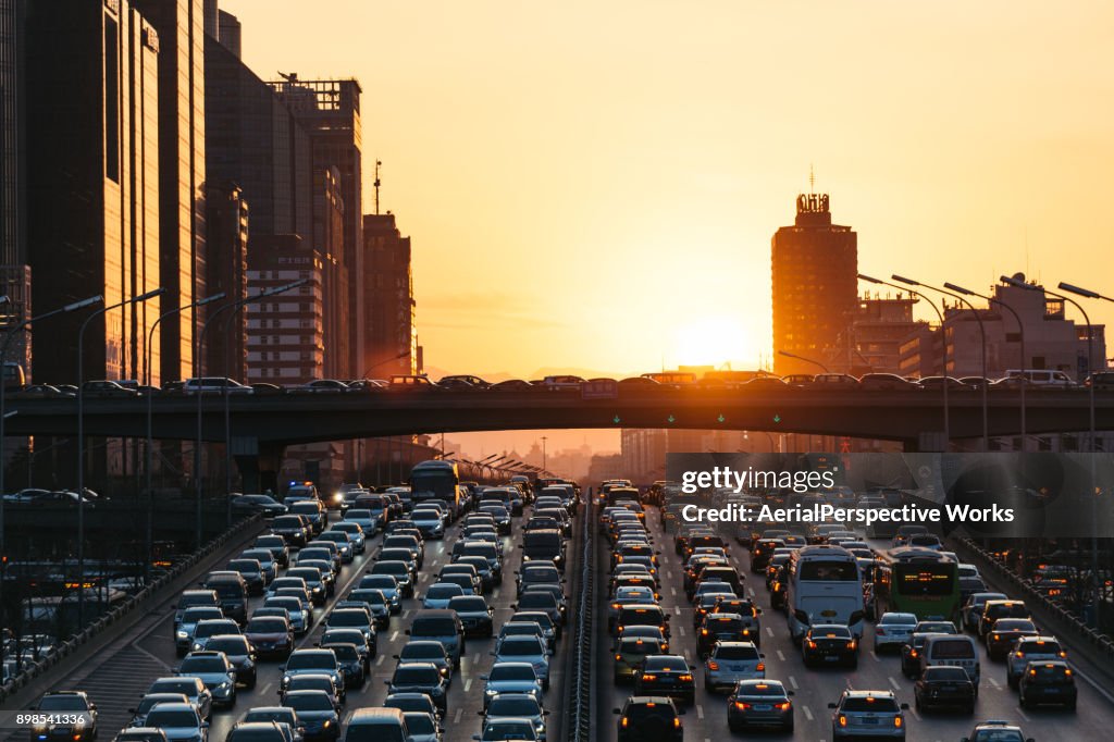
[[[113,0],[106,2],[111,4]],[[158,173],[162,228],[160,309],[167,312],[205,290],[205,32],[203,0],[133,0],[158,31]],[[163,321],[163,374],[194,374],[195,335],[204,309]],[[198,364],[204,365],[203,359]],[[204,369],[199,369],[204,372]]]

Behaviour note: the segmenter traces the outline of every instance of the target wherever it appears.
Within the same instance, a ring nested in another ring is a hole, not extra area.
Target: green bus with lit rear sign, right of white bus
[[[911,613],[921,621],[959,624],[959,565],[939,551],[900,546],[882,553],[874,570],[874,613]]]

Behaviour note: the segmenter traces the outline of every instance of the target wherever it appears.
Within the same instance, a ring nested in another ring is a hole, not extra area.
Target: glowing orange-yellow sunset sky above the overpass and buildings
[[[378,158],[446,372],[769,361],[770,238],[810,168],[863,273],[1114,295],[1114,3],[221,8],[264,79],[360,81],[363,207]]]

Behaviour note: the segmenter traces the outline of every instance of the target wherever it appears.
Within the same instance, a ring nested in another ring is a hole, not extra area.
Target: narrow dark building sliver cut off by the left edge
[[[27,265],[27,194],[25,192],[26,107],[23,105],[26,3],[0,0],[0,331],[31,316],[30,267]],[[30,342],[20,333],[3,362],[30,373]]]

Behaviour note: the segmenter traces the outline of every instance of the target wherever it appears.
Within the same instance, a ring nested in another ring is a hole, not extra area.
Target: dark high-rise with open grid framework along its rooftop
[[[364,359],[363,320],[363,236],[362,236],[362,143],[360,124],[360,84],[350,80],[302,80],[294,74],[271,82],[278,99],[293,111],[310,134],[313,172],[319,176],[335,168],[344,203],[343,246],[339,254],[345,269],[348,286],[346,359],[341,359],[344,377],[359,373]],[[320,224],[330,218],[328,211],[315,208],[313,219]]]

